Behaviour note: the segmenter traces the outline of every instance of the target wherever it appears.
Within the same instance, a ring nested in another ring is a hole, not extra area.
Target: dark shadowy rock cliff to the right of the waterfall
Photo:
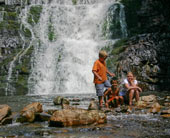
[[[119,45],[119,52],[116,47],[110,53],[118,76],[124,78],[132,71],[144,90],[170,90],[170,4],[168,0],[137,2],[122,0],[129,38]]]

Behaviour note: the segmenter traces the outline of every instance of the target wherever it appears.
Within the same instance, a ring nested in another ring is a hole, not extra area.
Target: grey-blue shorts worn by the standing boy
[[[108,80],[106,80],[105,82],[103,82],[101,84],[95,84],[96,95],[97,96],[103,96],[104,95],[104,88],[108,89],[110,87],[111,87],[111,84]]]

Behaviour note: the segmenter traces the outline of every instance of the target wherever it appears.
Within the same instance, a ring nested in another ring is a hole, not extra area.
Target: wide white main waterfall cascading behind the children
[[[29,94],[92,93],[92,66],[98,51],[113,40],[102,37],[102,25],[115,0],[39,0]],[[23,22],[23,24],[26,24]]]

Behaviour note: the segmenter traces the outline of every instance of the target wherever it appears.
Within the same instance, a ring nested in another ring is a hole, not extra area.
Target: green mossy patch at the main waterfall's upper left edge
[[[42,6],[32,6],[30,8],[30,13],[28,15],[28,23],[31,24],[32,26],[34,24],[37,24],[39,19],[40,19],[40,14],[42,12]]]

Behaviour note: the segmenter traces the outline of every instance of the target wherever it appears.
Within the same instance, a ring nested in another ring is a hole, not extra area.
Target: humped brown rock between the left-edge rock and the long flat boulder
[[[42,104],[39,102],[35,102],[27,105],[20,112],[20,117],[17,119],[17,122],[34,122],[36,113],[43,112]]]

